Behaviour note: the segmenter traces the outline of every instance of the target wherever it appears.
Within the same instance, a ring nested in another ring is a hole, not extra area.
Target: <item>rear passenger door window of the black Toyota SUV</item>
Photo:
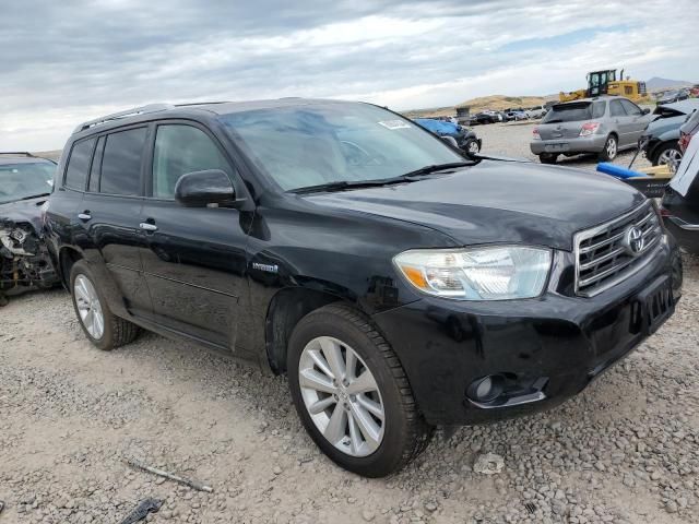
[[[107,135],[102,155],[100,193],[141,193],[141,158],[145,132],[146,128],[138,128]]]

